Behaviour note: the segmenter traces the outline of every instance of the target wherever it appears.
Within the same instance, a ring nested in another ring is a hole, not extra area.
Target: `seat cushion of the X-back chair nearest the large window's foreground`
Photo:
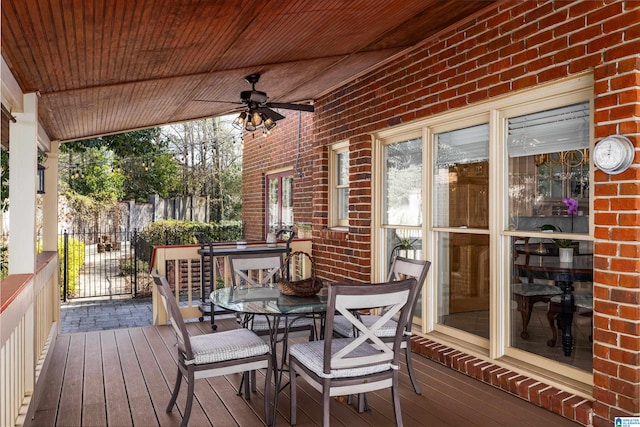
[[[351,338],[333,339],[332,354],[343,349],[351,341],[353,341]],[[355,357],[374,355],[378,353],[380,353],[380,351],[371,345],[362,344],[352,351],[350,355]],[[365,367],[334,369],[331,373],[325,374],[323,372],[324,340],[293,344],[289,347],[289,355],[294,356],[301,364],[309,368],[321,378],[359,377],[378,372],[385,372],[392,369],[390,362],[384,362]]]

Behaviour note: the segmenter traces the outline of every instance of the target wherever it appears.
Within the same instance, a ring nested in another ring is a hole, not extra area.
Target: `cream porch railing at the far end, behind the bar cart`
[[[200,245],[185,246],[156,246],[154,248],[152,268],[155,268],[159,274],[166,276],[169,284],[173,285],[176,298],[179,301],[180,310],[185,319],[199,318],[202,316],[200,311],[200,283],[193,283],[195,276],[194,268],[200,269],[200,254],[198,250]],[[226,256],[215,256],[216,249],[233,248],[235,242],[228,245],[214,246],[214,265],[221,263],[221,271],[224,277],[219,277],[217,268],[212,266],[212,283],[218,283],[219,280],[224,281],[225,286],[230,286],[231,276],[229,275],[229,260]],[[303,251],[311,254],[310,240],[294,240],[291,242],[291,252]],[[311,265],[306,257],[299,260],[299,265],[292,265],[291,271],[301,271],[304,277],[310,275]],[[173,270],[174,274],[167,275],[167,270]],[[202,272],[201,272],[202,273]],[[171,276],[171,277],[170,277]],[[153,324],[164,325],[167,323],[167,313],[160,300],[159,294],[153,287]]]

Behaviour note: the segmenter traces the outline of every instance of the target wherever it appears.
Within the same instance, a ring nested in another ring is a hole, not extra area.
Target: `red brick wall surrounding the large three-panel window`
[[[590,72],[595,137],[622,133],[638,147],[639,53],[638,1],[503,1],[317,100],[312,206],[319,274],[370,275],[371,133]],[[350,142],[348,232],[326,228],[327,146],[343,140]],[[640,415],[639,164],[636,151],[627,172],[595,173],[595,426]]]

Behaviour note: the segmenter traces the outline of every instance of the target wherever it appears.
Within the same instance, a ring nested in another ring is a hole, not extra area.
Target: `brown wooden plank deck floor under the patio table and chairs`
[[[221,319],[219,329],[234,327]],[[207,322],[190,323],[190,333],[210,332]],[[176,375],[175,337],[169,327],[115,329],[60,335],[43,380],[44,394],[33,426],[177,426],[185,402],[165,407]],[[423,394],[413,392],[406,367],[400,371],[401,406],[406,426],[575,426],[558,415],[447,369],[419,355],[414,363]],[[192,426],[258,426],[264,424],[262,387],[246,401],[236,395],[238,375],[196,382]],[[261,383],[262,381],[262,383]],[[320,424],[320,394],[299,381],[298,426]],[[289,424],[289,393],[280,394],[277,425]],[[333,426],[391,426],[390,392],[368,395],[372,410],[359,414],[332,401]]]

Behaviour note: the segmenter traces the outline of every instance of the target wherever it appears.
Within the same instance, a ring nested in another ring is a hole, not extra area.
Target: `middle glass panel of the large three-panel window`
[[[489,125],[436,133],[437,323],[489,338]],[[468,233],[477,229],[477,233]],[[484,232],[482,230],[485,230]],[[470,317],[473,321],[470,321]]]

